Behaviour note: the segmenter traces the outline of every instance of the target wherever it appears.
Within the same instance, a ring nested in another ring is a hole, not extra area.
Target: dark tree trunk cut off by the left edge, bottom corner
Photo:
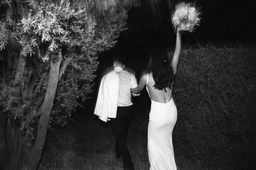
[[[4,169],[9,161],[9,151],[5,138],[6,118],[6,114],[0,110],[0,169]]]

